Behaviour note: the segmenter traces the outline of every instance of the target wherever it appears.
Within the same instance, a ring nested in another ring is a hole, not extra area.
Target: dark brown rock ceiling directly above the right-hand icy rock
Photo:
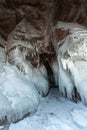
[[[54,19],[87,25],[86,0],[57,0]]]

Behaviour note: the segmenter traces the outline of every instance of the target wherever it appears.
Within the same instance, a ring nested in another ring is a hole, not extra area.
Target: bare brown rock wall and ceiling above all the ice
[[[34,66],[38,65],[42,53],[46,54],[48,60],[56,59],[54,41],[61,41],[69,34],[69,30],[56,29],[54,32],[58,20],[86,26],[86,0],[0,1],[0,34],[7,41],[8,52],[14,50],[15,46],[21,46],[19,48],[24,52],[26,43],[30,44],[33,50],[28,47],[26,57]],[[11,57],[10,53],[8,55]]]

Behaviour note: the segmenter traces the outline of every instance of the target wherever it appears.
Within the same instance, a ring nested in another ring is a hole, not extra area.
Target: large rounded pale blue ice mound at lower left
[[[17,122],[35,112],[39,98],[29,78],[15,66],[0,63],[0,125]]]

